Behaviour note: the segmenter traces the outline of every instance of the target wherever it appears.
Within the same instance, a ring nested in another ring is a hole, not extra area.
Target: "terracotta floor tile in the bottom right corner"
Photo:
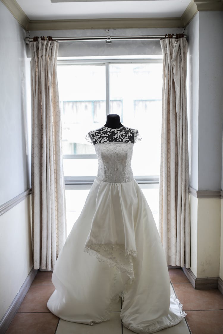
[[[223,310],[188,311],[187,322],[192,334],[222,334]]]

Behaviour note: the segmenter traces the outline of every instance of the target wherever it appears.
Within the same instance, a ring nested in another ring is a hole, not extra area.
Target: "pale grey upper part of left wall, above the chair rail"
[[[24,37],[24,29],[0,1],[0,205],[30,188],[29,60]]]

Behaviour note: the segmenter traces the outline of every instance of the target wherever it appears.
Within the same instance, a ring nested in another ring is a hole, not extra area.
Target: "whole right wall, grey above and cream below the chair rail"
[[[190,186],[220,190],[222,173],[223,12],[199,12],[187,27]],[[191,198],[191,270],[218,277],[221,254],[221,200]],[[223,265],[221,264],[221,268]],[[222,269],[221,269],[222,271]]]

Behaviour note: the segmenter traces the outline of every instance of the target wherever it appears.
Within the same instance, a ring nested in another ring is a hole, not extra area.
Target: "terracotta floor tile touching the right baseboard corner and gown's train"
[[[223,310],[223,295],[218,289],[195,290],[188,283],[175,283],[173,287],[185,311]]]

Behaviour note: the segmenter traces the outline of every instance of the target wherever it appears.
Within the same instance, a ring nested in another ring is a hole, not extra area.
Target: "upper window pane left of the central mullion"
[[[105,65],[58,66],[57,73],[63,154],[95,154],[85,136],[105,124]]]

